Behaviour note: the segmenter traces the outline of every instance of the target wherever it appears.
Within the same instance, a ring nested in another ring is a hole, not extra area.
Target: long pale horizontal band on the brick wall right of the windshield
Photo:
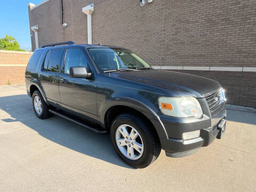
[[[256,72],[256,67],[199,67],[199,66],[152,66],[154,69],[172,70],[212,70],[212,71],[246,71]]]

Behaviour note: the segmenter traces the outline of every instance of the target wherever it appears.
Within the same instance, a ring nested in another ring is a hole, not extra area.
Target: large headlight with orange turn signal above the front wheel
[[[164,115],[173,117],[197,117],[203,115],[200,103],[194,97],[160,97],[159,107]]]

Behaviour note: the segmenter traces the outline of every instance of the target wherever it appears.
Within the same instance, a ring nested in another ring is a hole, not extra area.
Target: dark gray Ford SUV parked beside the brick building
[[[153,69],[120,47],[43,45],[25,75],[37,117],[55,114],[110,132],[117,154],[137,168],[153,163],[161,149],[169,157],[193,154],[225,131],[226,99],[218,82]]]

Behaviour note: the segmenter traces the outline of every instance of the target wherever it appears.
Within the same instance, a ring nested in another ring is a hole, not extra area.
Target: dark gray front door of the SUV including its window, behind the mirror
[[[90,79],[72,78],[69,76],[70,67],[84,66],[92,72],[89,58],[82,49],[70,48],[66,50],[66,58],[62,68],[62,79],[59,84],[61,106],[78,114],[97,118],[97,103],[95,74]]]

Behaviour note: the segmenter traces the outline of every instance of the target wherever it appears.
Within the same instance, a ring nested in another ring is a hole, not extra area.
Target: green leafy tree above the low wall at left
[[[20,49],[17,40],[10,35],[5,35],[4,38],[0,38],[0,50],[25,51]]]

